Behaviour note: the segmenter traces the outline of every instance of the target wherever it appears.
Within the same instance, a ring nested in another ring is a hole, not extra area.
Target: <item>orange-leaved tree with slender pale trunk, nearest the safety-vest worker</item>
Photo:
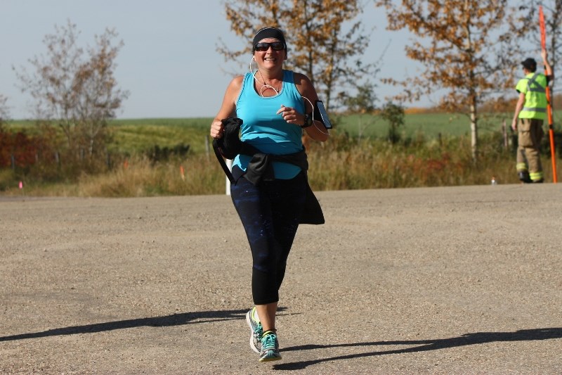
[[[478,160],[478,106],[486,98],[513,89],[516,35],[507,25],[514,10],[507,0],[376,0],[384,6],[388,30],[410,30],[427,44],[414,41],[406,55],[425,65],[405,81],[400,100],[416,100],[445,89],[440,108],[466,113],[471,122],[471,148]]]

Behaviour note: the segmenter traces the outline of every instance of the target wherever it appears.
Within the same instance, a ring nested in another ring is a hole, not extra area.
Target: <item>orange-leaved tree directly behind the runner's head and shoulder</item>
[[[289,44],[289,68],[311,79],[327,108],[334,101],[341,103],[353,82],[374,75],[374,65],[360,60],[370,38],[360,22],[352,23],[362,12],[360,1],[228,0],[225,8],[230,28],[245,40],[251,40],[261,27],[283,30]],[[219,51],[227,59],[236,59],[248,56],[251,46],[231,51],[223,44]]]

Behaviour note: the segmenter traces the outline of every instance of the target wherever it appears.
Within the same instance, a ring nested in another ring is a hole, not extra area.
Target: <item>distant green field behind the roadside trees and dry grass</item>
[[[554,113],[554,120],[562,111]],[[511,125],[511,113],[481,115],[478,123],[478,134],[502,132],[502,123]],[[385,139],[388,134],[388,123],[377,115],[334,115],[333,132],[346,133],[352,138]],[[189,144],[193,153],[207,151],[209,141],[209,125],[211,117],[193,118],[142,118],[119,119],[110,121],[110,132],[113,141],[110,151],[132,155],[150,150],[154,146],[173,147]],[[30,120],[13,120],[7,122],[11,129],[22,129],[34,133],[34,122]],[[555,125],[555,129],[560,129]],[[403,139],[420,136],[426,141],[439,136],[470,136],[470,120],[466,115],[450,115],[447,113],[416,113],[405,115],[405,125],[399,129]]]

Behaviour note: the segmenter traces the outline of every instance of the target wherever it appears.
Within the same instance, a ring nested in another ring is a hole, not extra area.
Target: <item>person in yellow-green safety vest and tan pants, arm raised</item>
[[[537,72],[537,62],[527,58],[523,63],[525,78],[519,80],[516,90],[519,100],[515,107],[511,129],[518,130],[516,168],[519,179],[524,183],[543,182],[540,163],[540,141],[544,136],[542,122],[547,117],[546,88],[554,80],[554,72],[547,61],[547,51],[541,51],[546,75]]]

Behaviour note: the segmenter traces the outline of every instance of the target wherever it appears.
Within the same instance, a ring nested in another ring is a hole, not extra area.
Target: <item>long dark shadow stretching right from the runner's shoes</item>
[[[466,333],[459,337],[440,338],[436,340],[406,340],[406,341],[372,341],[368,343],[344,343],[330,345],[299,345],[283,348],[282,352],[294,350],[314,350],[328,348],[353,348],[362,346],[379,346],[379,345],[418,345],[413,348],[404,348],[397,350],[381,350],[375,352],[362,352],[358,354],[339,355],[336,357],[317,358],[310,361],[291,362],[283,364],[275,364],[274,369],[278,370],[299,370],[304,369],[313,364],[322,362],[330,362],[336,360],[351,360],[360,357],[372,357],[375,355],[400,354],[410,352],[424,352],[427,350],[439,350],[446,348],[455,348],[464,345],[477,345],[483,343],[491,343],[493,341],[535,341],[549,340],[551,338],[562,338],[562,328],[539,328],[539,329],[522,329],[516,332],[477,332]]]

